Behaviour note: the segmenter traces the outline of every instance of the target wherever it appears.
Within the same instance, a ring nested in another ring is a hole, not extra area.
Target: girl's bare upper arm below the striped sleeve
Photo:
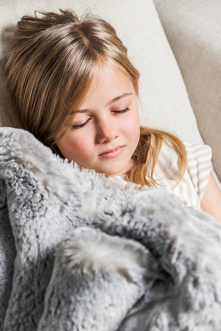
[[[221,191],[211,171],[200,205],[204,212],[221,222]]]

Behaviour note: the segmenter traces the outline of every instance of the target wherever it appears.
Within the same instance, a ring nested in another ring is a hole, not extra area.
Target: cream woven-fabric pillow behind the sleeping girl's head
[[[23,15],[34,16],[35,10],[59,12],[58,8],[70,8],[79,16],[90,11],[113,25],[128,49],[130,60],[140,71],[141,102],[138,100],[138,107],[141,125],[172,131],[187,142],[203,143],[183,77],[152,0],[122,0],[112,4],[108,0],[98,0],[96,3],[93,0],[39,0],[37,3],[14,0],[13,11],[11,6],[10,0],[1,3],[2,64],[10,37]],[[1,82],[5,78],[3,67],[0,71]],[[1,88],[1,95],[0,125],[22,128],[5,85]]]

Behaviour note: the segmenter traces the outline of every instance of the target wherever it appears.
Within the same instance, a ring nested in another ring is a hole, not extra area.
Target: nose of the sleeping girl
[[[112,141],[115,137],[119,137],[116,119],[111,120],[110,118],[106,118],[100,120],[97,127],[97,136],[100,143],[103,143],[105,140]]]

